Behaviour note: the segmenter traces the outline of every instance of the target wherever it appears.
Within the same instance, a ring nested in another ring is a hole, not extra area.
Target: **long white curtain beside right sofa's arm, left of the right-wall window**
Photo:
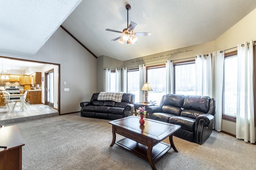
[[[214,115],[213,129],[220,132],[222,130],[222,90],[224,76],[224,52],[216,51],[212,53],[212,98],[216,99],[216,113]]]

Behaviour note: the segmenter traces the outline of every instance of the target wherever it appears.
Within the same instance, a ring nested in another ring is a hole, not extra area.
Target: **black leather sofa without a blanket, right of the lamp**
[[[164,121],[181,128],[174,136],[203,144],[212,133],[216,100],[208,96],[166,94],[160,106],[150,106],[148,118]]]

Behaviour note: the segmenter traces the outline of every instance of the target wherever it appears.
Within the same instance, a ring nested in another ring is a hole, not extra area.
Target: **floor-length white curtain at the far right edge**
[[[253,42],[238,44],[236,138],[255,143],[253,101]]]

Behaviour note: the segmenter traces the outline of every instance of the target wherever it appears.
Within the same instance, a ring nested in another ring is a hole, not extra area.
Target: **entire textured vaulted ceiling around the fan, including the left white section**
[[[135,44],[111,41],[137,23]],[[62,25],[97,57],[121,61],[214,41],[256,8],[255,0],[0,1],[0,51],[34,55]]]

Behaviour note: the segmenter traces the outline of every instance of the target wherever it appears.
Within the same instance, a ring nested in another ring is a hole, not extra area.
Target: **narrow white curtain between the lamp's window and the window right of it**
[[[173,84],[174,84],[174,72],[173,72],[173,62],[170,60],[166,61],[166,94],[173,94]]]

